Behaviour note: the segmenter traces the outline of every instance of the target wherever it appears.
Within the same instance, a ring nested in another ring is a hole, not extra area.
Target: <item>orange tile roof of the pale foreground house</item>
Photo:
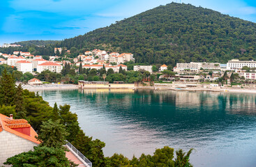
[[[40,141],[36,139],[36,134],[35,130],[29,125],[27,120],[10,120],[10,117],[4,116],[3,114],[0,113],[0,132],[6,131],[11,134],[15,134],[16,136],[20,136],[21,138],[24,138],[28,141],[32,141],[33,143],[40,144]],[[29,127],[30,126],[30,136],[27,134],[22,134],[21,132],[17,132],[14,130],[15,128],[22,128],[22,127]],[[13,128],[13,129],[12,129]]]

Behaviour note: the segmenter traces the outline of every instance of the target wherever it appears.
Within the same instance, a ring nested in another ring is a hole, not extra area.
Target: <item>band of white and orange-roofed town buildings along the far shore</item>
[[[54,48],[55,54],[61,54],[65,51],[65,55],[70,53],[70,50],[64,50],[63,48]],[[227,64],[220,63],[176,63],[176,66],[172,68],[170,65],[141,65],[135,63],[133,54],[117,52],[107,52],[100,49],[93,49],[92,51],[85,51],[84,54],[80,54],[75,58],[62,58],[61,56],[48,56],[48,60],[45,60],[43,56],[34,56],[30,52],[13,51],[13,54],[0,53],[0,65],[6,64],[11,67],[16,67],[17,71],[23,74],[29,72],[36,76],[45,70],[50,72],[61,73],[65,65],[70,65],[75,68],[75,72],[79,71],[79,67],[82,66],[86,70],[101,70],[106,71],[112,69],[114,72],[119,73],[120,68],[124,71],[133,70],[138,72],[149,72],[150,74],[162,74],[158,76],[158,79],[162,81],[193,81],[193,82],[215,82],[216,84],[227,80],[227,83],[231,84],[235,80],[240,82],[253,83],[256,75],[256,62],[251,61],[239,61],[238,59],[232,59]],[[133,62],[133,68],[128,69],[127,63]],[[172,73],[170,73],[172,72]],[[226,76],[228,79],[223,79]],[[235,76],[235,77],[234,77]],[[229,79],[231,77],[231,79]],[[231,80],[231,81],[230,81]]]

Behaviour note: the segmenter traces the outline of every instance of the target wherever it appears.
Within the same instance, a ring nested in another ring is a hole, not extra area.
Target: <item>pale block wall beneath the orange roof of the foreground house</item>
[[[33,150],[34,146],[37,144],[3,130],[0,132],[0,166],[9,157]]]

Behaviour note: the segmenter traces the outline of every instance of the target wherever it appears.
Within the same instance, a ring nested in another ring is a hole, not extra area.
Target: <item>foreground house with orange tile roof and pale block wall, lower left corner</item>
[[[6,159],[33,150],[40,143],[27,120],[14,120],[0,113],[0,166]]]

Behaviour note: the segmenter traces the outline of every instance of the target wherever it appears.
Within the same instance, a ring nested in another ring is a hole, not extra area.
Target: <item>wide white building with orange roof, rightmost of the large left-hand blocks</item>
[[[63,68],[62,65],[59,65],[59,64],[51,62],[51,61],[47,61],[45,63],[38,65],[36,70],[39,73],[43,72],[44,70],[50,70],[50,72],[60,73],[62,68]]]

